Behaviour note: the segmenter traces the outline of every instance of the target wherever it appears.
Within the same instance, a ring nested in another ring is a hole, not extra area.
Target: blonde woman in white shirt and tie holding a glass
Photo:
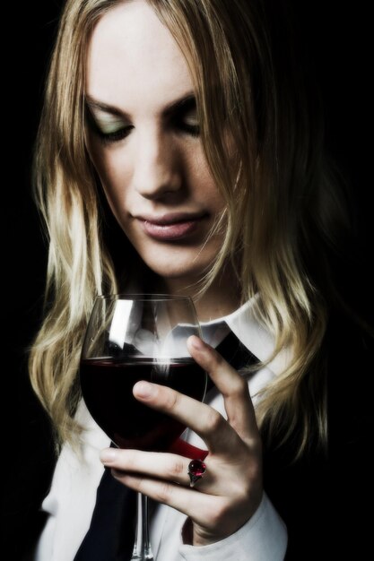
[[[372,330],[337,280],[344,186],[287,14],[270,0],[65,3],[35,157],[49,252],[30,350],[57,457],[49,442],[32,471],[29,558],[78,555],[104,466],[154,501],[161,561],[331,558],[343,532],[358,558],[369,409],[350,388],[353,371],[366,387]],[[135,385],[203,439],[194,488],[190,459],[110,447],[81,399],[94,298],[135,290],[191,296],[212,333],[229,326],[258,361],[238,372],[213,337],[195,338],[213,381],[204,403]],[[333,500],[335,465],[347,477]]]

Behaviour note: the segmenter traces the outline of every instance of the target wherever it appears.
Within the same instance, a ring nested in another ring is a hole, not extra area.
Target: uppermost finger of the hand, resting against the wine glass
[[[222,393],[230,426],[243,440],[257,435],[257,421],[247,380],[230,367],[216,350],[195,335],[188,339],[188,350]]]

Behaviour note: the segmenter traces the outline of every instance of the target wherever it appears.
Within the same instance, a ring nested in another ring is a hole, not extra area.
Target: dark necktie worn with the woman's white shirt
[[[257,362],[231,331],[216,350],[237,370]],[[208,390],[212,387],[208,377]],[[183,453],[183,446],[180,452]],[[74,561],[128,561],[134,547],[135,514],[135,492],[118,483],[106,469],[97,490],[89,531]]]

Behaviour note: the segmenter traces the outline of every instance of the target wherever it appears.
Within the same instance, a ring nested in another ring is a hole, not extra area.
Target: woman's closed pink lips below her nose
[[[202,220],[201,214],[168,214],[161,218],[148,216],[136,217],[141,221],[144,232],[161,241],[182,239],[192,234]]]

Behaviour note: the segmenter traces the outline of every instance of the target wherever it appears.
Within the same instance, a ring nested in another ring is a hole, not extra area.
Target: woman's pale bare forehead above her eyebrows
[[[131,111],[155,107],[193,91],[186,60],[170,31],[144,0],[105,13],[92,31],[86,91],[95,99]],[[134,108],[131,106],[135,106]]]

